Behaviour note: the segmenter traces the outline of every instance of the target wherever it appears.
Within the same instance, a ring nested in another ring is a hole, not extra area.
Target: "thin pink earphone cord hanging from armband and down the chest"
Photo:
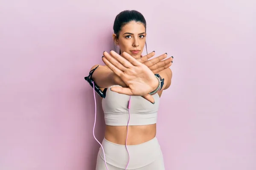
[[[108,170],[108,166],[107,166],[107,161],[106,161],[106,157],[105,157],[105,152],[104,152],[104,149],[103,149],[103,146],[102,144],[96,139],[95,137],[95,134],[94,134],[94,129],[95,129],[95,124],[96,124],[96,113],[97,113],[97,107],[96,107],[96,97],[95,97],[95,89],[94,89],[94,82],[92,81],[93,83],[93,96],[94,96],[94,102],[95,102],[95,118],[94,118],[94,125],[93,125],[93,137],[94,139],[100,144],[100,146],[102,147],[102,150],[103,150],[103,154],[104,154],[104,161],[105,161],[105,166]],[[129,154],[129,151],[128,151],[128,148],[127,148],[127,138],[128,138],[128,125],[129,125],[129,121],[130,121],[130,108],[131,108],[131,96],[130,96],[130,99],[129,99],[129,102],[128,102],[128,113],[129,113],[129,119],[128,119],[128,123],[127,123],[127,136],[126,136],[126,140],[125,140],[125,147],[126,147],[126,150],[128,152],[128,162],[127,162],[127,165],[125,167],[125,170],[126,168],[128,167],[128,164],[129,164],[129,161],[130,161],[130,154]]]

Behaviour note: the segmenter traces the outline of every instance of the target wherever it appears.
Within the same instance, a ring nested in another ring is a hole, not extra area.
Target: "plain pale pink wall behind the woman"
[[[166,170],[255,170],[255,5],[1,1],[0,169],[95,168],[93,91],[84,76],[114,49],[116,14],[136,9],[148,22],[148,51],[174,56],[157,124]]]

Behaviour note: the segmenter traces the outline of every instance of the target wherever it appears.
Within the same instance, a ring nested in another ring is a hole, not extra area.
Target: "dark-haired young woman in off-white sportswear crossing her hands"
[[[91,68],[94,83],[106,90],[102,99],[106,130],[96,170],[165,170],[156,122],[160,96],[171,84],[173,57],[163,60],[167,57],[163,54],[147,60],[154,51],[141,56],[146,21],[138,11],[119,13],[113,30],[119,54],[104,51],[106,65]]]

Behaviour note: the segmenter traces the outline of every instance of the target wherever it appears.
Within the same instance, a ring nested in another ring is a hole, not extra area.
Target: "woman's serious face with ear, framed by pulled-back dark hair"
[[[116,34],[113,34],[113,39],[116,45],[119,45],[121,53],[126,52],[138,59],[146,42],[145,26],[143,23],[131,21],[122,27],[118,39]]]

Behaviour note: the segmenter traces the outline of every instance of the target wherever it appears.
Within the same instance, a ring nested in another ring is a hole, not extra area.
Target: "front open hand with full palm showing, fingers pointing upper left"
[[[146,65],[126,52],[120,56],[114,51],[111,51],[110,54],[105,51],[103,55],[103,62],[128,86],[127,88],[115,86],[111,88],[111,91],[131,96],[142,96],[154,103],[153,96],[148,93],[157,88],[158,80]]]

